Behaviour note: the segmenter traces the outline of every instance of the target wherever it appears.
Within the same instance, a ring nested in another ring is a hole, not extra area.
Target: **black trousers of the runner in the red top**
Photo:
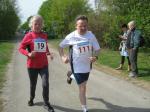
[[[35,90],[37,84],[38,74],[40,74],[42,79],[43,87],[43,100],[44,103],[49,102],[49,72],[48,67],[41,69],[28,68],[28,74],[30,78],[30,100],[33,100],[35,97]]]

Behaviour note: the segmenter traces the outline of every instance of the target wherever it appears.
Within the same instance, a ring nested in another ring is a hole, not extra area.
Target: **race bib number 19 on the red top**
[[[45,39],[35,39],[34,40],[34,51],[36,52],[46,52],[46,41]]]

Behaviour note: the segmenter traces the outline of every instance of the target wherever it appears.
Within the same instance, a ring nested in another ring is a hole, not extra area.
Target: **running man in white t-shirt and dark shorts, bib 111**
[[[83,112],[88,112],[86,105],[86,84],[91,71],[91,64],[98,58],[100,46],[96,37],[88,31],[88,18],[80,15],[76,18],[76,30],[68,34],[60,43],[59,53],[64,63],[71,63],[72,73],[79,86],[79,99]],[[70,58],[64,53],[65,47],[71,47]]]

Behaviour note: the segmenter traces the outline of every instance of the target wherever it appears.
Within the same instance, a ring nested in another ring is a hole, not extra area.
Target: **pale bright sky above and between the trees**
[[[28,17],[36,15],[44,1],[46,0],[17,0],[21,22],[23,23]],[[94,0],[89,0],[90,4],[93,4],[93,2]]]

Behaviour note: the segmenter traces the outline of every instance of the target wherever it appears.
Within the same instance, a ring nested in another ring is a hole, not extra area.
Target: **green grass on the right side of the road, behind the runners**
[[[61,40],[50,40],[49,43],[52,44],[55,48],[58,48],[59,42]],[[115,69],[120,64],[120,53],[119,51],[112,51],[109,49],[101,49],[99,59],[97,61],[97,66],[100,65],[108,66]],[[139,80],[144,80],[150,82],[150,49],[140,49],[138,54],[138,68],[139,68]],[[123,73],[125,77],[128,76],[127,72],[127,60],[123,70],[120,72]]]

